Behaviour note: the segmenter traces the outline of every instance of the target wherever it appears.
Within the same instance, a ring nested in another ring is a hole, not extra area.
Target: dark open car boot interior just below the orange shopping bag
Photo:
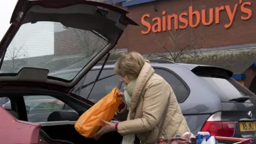
[[[117,143],[119,144],[122,141],[122,136],[117,132],[111,132],[105,135],[96,141],[92,138],[85,138],[83,135],[79,134],[74,127],[75,122],[79,118],[79,115],[75,112],[62,112],[54,111],[49,115],[47,119],[48,122],[41,123],[41,129],[45,133],[46,138],[49,139],[52,143],[58,140],[69,141],[74,144],[78,143]],[[43,135],[42,135],[43,136]],[[49,141],[49,142],[50,142]],[[64,142],[65,143],[65,142]]]

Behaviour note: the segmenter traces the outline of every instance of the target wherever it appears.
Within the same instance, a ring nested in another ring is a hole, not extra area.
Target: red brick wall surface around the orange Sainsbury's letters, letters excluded
[[[210,26],[204,26],[200,23],[196,28],[187,28],[185,30],[186,35],[183,35],[177,42],[180,47],[183,47],[188,44],[188,37],[196,35],[197,37],[202,37],[202,39],[198,38],[197,42],[203,48],[256,43],[256,11],[254,10],[256,8],[256,0],[250,1],[252,2],[252,17],[249,20],[241,20],[241,4],[238,2],[238,0],[167,0],[129,6],[127,10],[130,11],[129,17],[141,25],[141,17],[143,14],[150,14],[151,18],[162,17],[162,11],[166,11],[166,15],[180,14],[182,12],[188,12],[189,6],[194,6],[194,11],[197,10],[199,12],[201,12],[202,9],[206,9],[207,14],[210,8],[225,5],[230,5],[230,9],[233,11],[235,4],[237,4],[237,12],[231,27],[224,27],[224,25],[229,22],[229,19],[226,11],[221,11],[219,24],[215,24],[213,21],[213,24]],[[244,0],[242,2],[249,1]],[[157,11],[155,11],[155,9]],[[246,14],[244,17],[246,17]],[[206,20],[208,20],[208,18]],[[150,19],[147,21],[150,21]],[[146,28],[142,25],[141,27],[129,26],[124,33],[125,40],[118,43],[117,47],[127,47],[129,51],[138,51],[140,53],[164,52],[165,50],[155,42],[156,38],[153,33],[147,35],[141,34],[141,30],[145,29]],[[178,34],[180,32],[181,30],[177,30],[175,33]],[[166,43],[166,46],[170,48],[172,47],[169,39],[169,31],[157,33],[156,35],[161,39],[162,43]]]

